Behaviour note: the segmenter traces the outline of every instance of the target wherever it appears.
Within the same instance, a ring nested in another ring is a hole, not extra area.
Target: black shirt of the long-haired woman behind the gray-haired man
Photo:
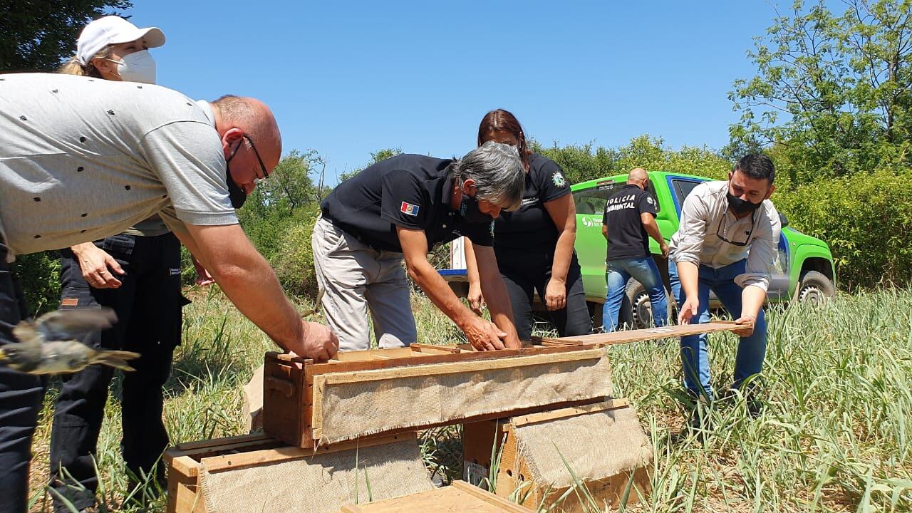
[[[554,251],[560,236],[544,204],[570,194],[570,184],[556,162],[533,153],[525,176],[523,206],[502,212],[494,221],[494,246],[505,249]]]

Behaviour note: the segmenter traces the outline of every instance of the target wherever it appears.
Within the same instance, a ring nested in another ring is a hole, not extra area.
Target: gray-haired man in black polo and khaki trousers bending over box
[[[510,300],[491,248],[492,220],[523,198],[516,150],[491,142],[461,160],[397,155],[339,183],[320,205],[312,244],[321,306],[342,351],[369,349],[367,310],[381,348],[418,339],[409,276],[480,351],[518,348]],[[468,236],[492,298],[492,320],[467,309],[428,262],[433,246]]]

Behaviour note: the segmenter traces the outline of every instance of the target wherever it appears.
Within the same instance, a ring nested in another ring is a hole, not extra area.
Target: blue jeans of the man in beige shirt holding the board
[[[700,306],[697,308],[697,317],[690,319],[691,323],[701,324],[710,321],[710,290],[716,293],[716,297],[731,317],[741,317],[741,287],[734,282],[734,278],[744,272],[745,266],[745,260],[718,269],[700,265],[700,280],[697,286]],[[681,289],[678,266],[674,258],[668,258],[668,277],[671,278],[671,293],[678,304],[683,305],[684,291]],[[751,336],[741,337],[738,342],[732,386],[737,388],[748,377],[759,374],[765,356],[766,319],[761,309],[754,322]],[[684,370],[684,385],[688,390],[691,393],[705,395],[711,400],[710,358],[706,348],[706,333],[681,337],[681,367]]]

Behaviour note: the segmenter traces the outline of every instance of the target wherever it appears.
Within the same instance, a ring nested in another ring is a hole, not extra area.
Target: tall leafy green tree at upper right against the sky
[[[797,0],[755,39],[757,76],[729,93],[730,150],[780,146],[793,183],[910,163],[912,0],[845,4],[835,16]]]

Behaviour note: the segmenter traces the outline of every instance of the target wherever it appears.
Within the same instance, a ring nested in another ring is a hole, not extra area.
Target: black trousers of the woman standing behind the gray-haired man
[[[500,267],[503,283],[510,295],[513,306],[513,322],[520,340],[532,336],[533,294],[544,304],[544,290],[551,279],[551,265],[554,252],[530,252],[528,250],[504,249],[495,246],[497,266]],[[570,260],[566,277],[566,307],[548,310],[548,319],[554,324],[561,337],[587,335],[592,332],[592,318],[586,308],[586,294],[583,291],[583,276],[580,273],[576,253]]]

